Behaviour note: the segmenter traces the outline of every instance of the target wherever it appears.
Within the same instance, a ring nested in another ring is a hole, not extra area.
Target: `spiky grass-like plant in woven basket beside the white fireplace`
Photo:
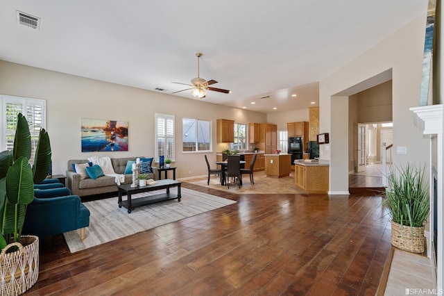
[[[391,217],[391,244],[414,253],[424,252],[424,224],[429,216],[429,185],[424,170],[410,163],[396,168],[383,194]]]

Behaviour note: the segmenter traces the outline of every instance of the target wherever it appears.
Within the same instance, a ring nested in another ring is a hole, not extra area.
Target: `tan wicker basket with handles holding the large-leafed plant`
[[[16,252],[6,253],[12,246]],[[31,288],[39,277],[39,238],[22,236],[1,250],[0,295],[19,295]]]

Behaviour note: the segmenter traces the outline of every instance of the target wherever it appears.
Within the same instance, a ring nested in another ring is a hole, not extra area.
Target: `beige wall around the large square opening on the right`
[[[345,104],[342,97],[334,95],[388,69],[392,69],[393,81],[393,146],[395,151],[396,147],[407,147],[407,154],[394,154],[393,160],[398,164],[428,160],[429,142],[422,139],[409,110],[419,104],[425,22],[424,13],[320,81],[320,132],[330,132],[330,145],[321,145],[320,158],[330,160],[331,194],[348,192],[349,169],[348,145],[343,149],[343,143],[348,143],[348,122],[342,124],[341,120],[348,117],[348,108],[337,108],[336,104],[341,107]]]

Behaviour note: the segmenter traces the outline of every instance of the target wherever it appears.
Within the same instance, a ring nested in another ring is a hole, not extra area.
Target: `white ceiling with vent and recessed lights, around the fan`
[[[17,24],[16,10],[40,29]],[[200,77],[232,90],[205,101],[279,112],[318,106],[318,81],[426,10],[427,0],[0,0],[0,60],[171,93],[197,76],[201,51]]]

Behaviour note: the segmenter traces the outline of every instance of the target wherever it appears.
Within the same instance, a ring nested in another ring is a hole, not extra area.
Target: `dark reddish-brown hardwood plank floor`
[[[27,295],[375,295],[391,250],[373,192],[236,195],[214,211],[71,254],[41,240]]]

